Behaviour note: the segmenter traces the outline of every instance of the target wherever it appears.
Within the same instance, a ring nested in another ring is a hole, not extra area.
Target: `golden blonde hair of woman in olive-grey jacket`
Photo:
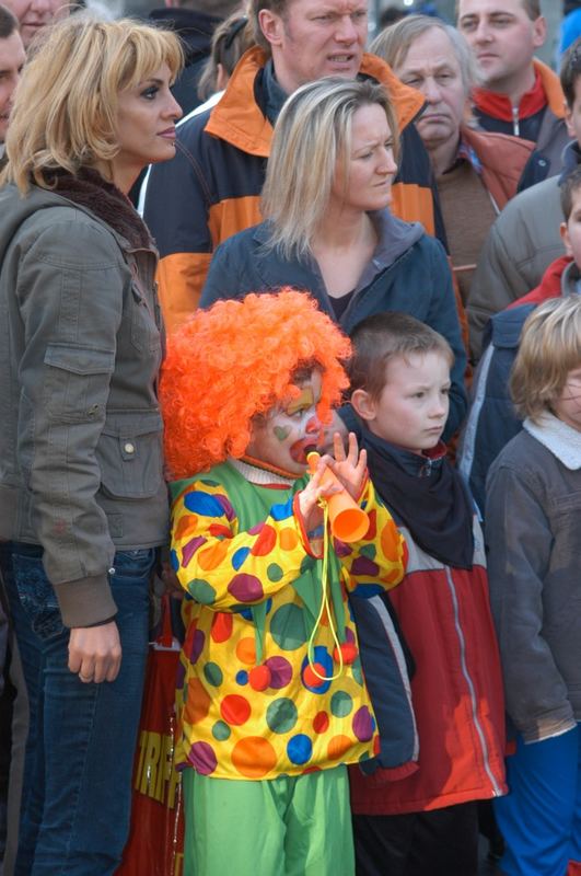
[[[27,192],[49,187],[51,172],[75,174],[115,158],[119,94],[164,64],[175,79],[183,65],[178,38],[129,19],[73,15],[50,28],[16,88],[3,180]]]

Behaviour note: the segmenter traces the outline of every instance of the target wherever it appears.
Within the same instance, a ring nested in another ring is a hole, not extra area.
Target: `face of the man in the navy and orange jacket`
[[[282,15],[263,9],[278,82],[292,94],[325,76],[355,79],[368,36],[368,0],[288,0]]]

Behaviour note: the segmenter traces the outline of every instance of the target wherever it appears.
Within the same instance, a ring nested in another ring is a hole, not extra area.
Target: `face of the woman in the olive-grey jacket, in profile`
[[[148,164],[175,155],[175,123],[183,115],[170,91],[166,64],[135,88],[121,92],[117,111],[119,152],[113,159],[113,177],[121,191],[129,188]]]

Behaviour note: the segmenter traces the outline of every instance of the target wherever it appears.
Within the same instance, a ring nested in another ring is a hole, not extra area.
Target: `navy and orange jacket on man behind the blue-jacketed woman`
[[[144,219],[160,250],[159,291],[169,332],[198,306],[218,244],[262,221],[259,199],[272,137],[263,106],[266,61],[262,49],[249,49],[219,103],[178,126],[175,159],[153,166],[149,175]],[[374,55],[363,56],[361,73],[386,87],[397,114],[402,157],[392,210],[443,239],[430,161],[411,124],[423,97]]]

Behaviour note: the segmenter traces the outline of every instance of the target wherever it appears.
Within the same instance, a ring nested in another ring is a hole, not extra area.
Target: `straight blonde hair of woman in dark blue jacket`
[[[269,245],[287,257],[310,252],[327,209],[338,162],[347,185],[353,115],[362,106],[384,111],[398,154],[395,111],[383,85],[370,80],[327,77],[292,94],[275,125],[262,196],[270,220]]]

